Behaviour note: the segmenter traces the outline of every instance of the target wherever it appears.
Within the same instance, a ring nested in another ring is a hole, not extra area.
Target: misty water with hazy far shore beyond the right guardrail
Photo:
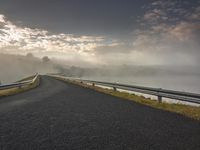
[[[81,79],[200,93],[199,66],[104,66],[71,67],[67,76]],[[70,72],[70,74],[69,74]]]

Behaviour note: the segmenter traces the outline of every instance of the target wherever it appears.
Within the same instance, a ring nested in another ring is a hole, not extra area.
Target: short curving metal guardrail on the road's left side
[[[36,82],[36,80],[39,78],[38,73],[34,76],[33,79],[31,80],[26,80],[26,81],[21,81],[21,82],[16,82],[16,83],[10,83],[10,84],[3,84],[0,85],[0,90],[5,90],[5,89],[10,89],[10,88],[15,88],[15,87],[22,87],[24,85],[29,85],[33,84]]]

